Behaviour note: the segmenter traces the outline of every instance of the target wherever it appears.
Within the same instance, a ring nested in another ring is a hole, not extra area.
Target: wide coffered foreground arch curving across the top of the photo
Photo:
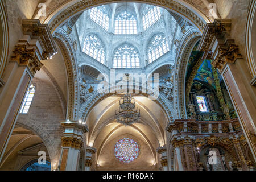
[[[59,13],[60,9],[53,10],[44,20],[43,23],[48,23],[50,30],[55,32],[57,30],[57,27],[62,26],[69,18],[72,18],[73,16],[76,16],[80,13],[80,11],[88,10],[95,6],[105,5],[107,3],[117,3],[121,2],[120,0],[112,0],[112,1],[91,1],[91,0],[84,0],[77,2],[72,5],[65,5],[62,6],[63,11]],[[129,2],[138,2],[131,0]],[[207,15],[207,13],[199,10],[197,7],[188,4],[188,7],[185,7],[181,3],[175,2],[175,1],[150,1],[150,0],[142,0],[141,3],[148,3],[151,5],[156,5],[159,7],[166,8],[169,11],[172,11],[173,13],[176,13],[180,15],[182,18],[187,19],[189,23],[193,24],[195,27],[197,27],[197,30],[203,32],[205,27],[205,22],[210,23],[213,20],[210,19]]]

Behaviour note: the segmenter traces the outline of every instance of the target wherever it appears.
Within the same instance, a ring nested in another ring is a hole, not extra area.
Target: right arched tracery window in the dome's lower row
[[[147,56],[148,63],[158,59],[160,56],[163,56],[165,53],[170,51],[166,36],[164,34],[155,35],[148,46]]]

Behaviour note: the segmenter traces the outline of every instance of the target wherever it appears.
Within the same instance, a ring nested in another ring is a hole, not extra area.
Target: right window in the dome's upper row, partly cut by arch
[[[161,17],[160,7],[146,5],[142,13],[143,29],[146,30]]]

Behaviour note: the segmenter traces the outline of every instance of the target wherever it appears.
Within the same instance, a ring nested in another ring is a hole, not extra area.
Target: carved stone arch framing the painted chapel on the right
[[[181,40],[181,47],[179,48],[179,56],[176,57],[174,66],[174,103],[176,106],[177,115],[180,118],[187,118],[185,110],[185,74],[189,56],[191,55],[192,48],[200,39],[201,34],[191,28],[183,36]]]

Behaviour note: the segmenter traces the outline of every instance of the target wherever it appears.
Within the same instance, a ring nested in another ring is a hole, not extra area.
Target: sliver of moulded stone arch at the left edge
[[[9,52],[9,28],[4,1],[0,2],[0,86],[3,85],[1,78],[5,72]]]

